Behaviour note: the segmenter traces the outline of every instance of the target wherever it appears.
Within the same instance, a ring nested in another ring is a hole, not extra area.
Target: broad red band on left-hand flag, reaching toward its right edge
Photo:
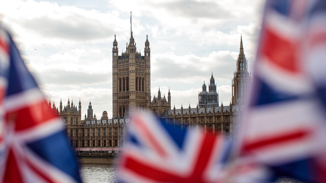
[[[15,130],[25,130],[30,127],[42,124],[55,115],[45,100],[38,103],[33,103],[17,111],[9,111],[6,114],[8,122],[15,122]]]

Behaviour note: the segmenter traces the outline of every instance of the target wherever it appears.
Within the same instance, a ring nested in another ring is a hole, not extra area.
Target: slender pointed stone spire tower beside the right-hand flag
[[[247,89],[251,85],[251,74],[248,72],[247,60],[244,55],[242,36],[240,41],[240,53],[237,60],[237,71],[233,73],[232,80],[232,105],[243,104],[247,100]]]

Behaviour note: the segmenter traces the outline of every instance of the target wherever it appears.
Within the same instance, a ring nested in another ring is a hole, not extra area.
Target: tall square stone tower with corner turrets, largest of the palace
[[[151,67],[148,35],[144,56],[137,52],[131,32],[126,51],[118,56],[116,35],[112,48],[113,117],[129,117],[129,113],[144,111],[150,100]]]

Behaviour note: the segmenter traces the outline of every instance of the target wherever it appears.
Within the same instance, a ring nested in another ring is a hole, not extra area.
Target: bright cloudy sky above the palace
[[[195,108],[211,75],[219,104],[229,105],[242,35],[253,68],[264,1],[0,1],[0,25],[12,34],[22,58],[51,103],[91,101],[97,119],[112,116],[112,46],[126,51],[132,31],[143,55],[151,48],[151,97],[171,108]],[[208,86],[208,85],[207,85]],[[208,87],[207,87],[208,90]]]

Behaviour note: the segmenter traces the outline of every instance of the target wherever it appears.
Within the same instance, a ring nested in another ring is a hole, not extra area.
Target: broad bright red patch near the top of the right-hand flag
[[[262,54],[267,56],[269,61],[288,72],[299,72],[295,40],[284,39],[269,29],[263,31],[261,39]]]

